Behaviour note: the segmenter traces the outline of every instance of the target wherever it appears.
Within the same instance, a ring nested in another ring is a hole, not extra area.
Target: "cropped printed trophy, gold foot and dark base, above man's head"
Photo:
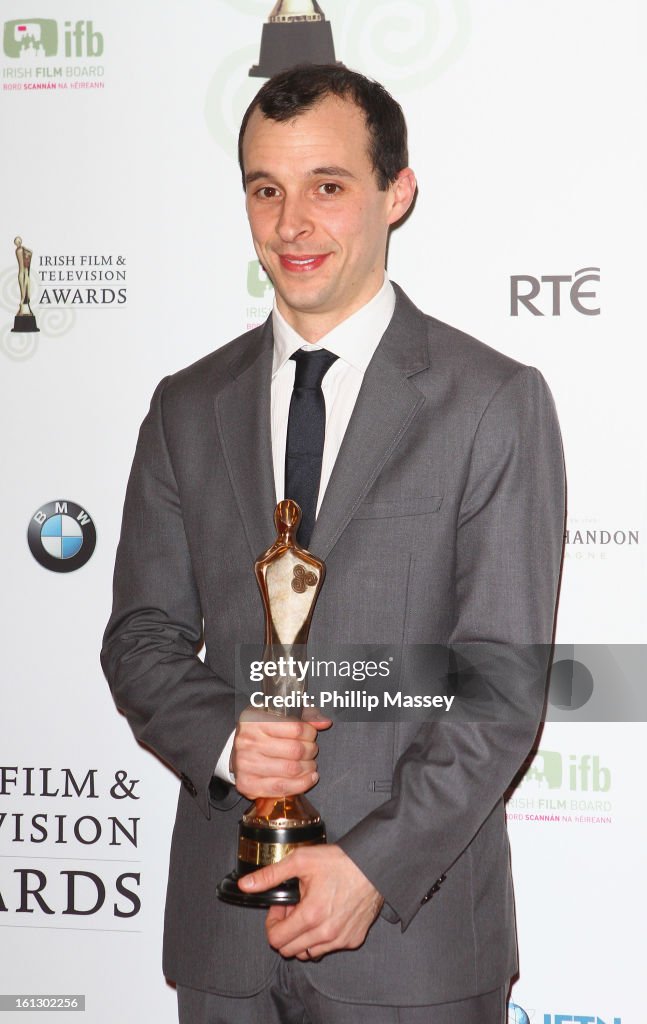
[[[316,0],[277,0],[263,26],[252,78],[271,78],[298,63],[336,63],[331,23]]]

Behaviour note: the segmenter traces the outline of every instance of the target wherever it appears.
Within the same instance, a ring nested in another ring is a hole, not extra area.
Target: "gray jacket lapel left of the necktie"
[[[230,364],[232,380],[216,397],[216,425],[252,557],[274,539],[271,452],[271,318]]]

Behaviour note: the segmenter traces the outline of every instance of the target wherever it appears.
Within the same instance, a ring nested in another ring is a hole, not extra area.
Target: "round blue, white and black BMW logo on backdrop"
[[[80,505],[70,501],[48,502],[31,518],[27,531],[36,561],[52,572],[74,572],[92,557],[96,530]]]

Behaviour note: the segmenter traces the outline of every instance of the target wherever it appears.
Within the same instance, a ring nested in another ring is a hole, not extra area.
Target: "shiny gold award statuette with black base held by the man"
[[[295,540],[300,520],[301,509],[296,502],[291,499],[278,502],[274,511],[276,540],[254,566],[265,609],[265,662],[289,657],[295,644],[303,650],[326,574],[323,562],[300,548]],[[305,682],[288,672],[264,677],[263,694],[267,697],[285,698],[304,691]],[[273,708],[271,700],[268,703],[271,714],[279,718],[301,717],[299,708],[286,708],[285,699]],[[325,842],[326,825],[305,797],[258,798],[239,824],[236,867],[218,886],[218,896],[239,906],[298,903],[297,879],[289,879],[262,893],[242,892],[238,880],[265,864],[283,860],[297,847]]]

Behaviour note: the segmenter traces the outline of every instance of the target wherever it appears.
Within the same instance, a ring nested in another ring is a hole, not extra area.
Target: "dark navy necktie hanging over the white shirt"
[[[321,477],[321,456],[326,436],[326,402],[321,381],[337,358],[320,348],[314,352],[299,349],[291,356],[297,365],[294,390],[290,400],[286,443],[286,498],[301,506],[301,524],[297,540],[302,547],[310,543]]]

